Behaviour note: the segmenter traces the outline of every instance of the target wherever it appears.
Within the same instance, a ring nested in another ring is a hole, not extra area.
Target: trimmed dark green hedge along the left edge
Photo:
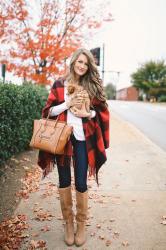
[[[47,96],[44,87],[0,82],[0,165],[28,148],[33,120],[41,117]]]

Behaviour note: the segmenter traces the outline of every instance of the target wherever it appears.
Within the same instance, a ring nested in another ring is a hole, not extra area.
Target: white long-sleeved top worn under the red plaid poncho
[[[54,106],[51,109],[50,116],[57,116],[60,113],[67,110],[68,108],[67,108],[66,103],[67,103],[68,98],[70,98],[70,97],[68,97],[67,89],[66,89],[66,87],[64,87],[64,99],[65,99],[65,101],[62,104]],[[94,118],[95,115],[96,115],[95,110],[92,110],[91,118]],[[85,141],[82,118],[75,116],[69,109],[67,110],[67,124],[73,126],[73,134],[77,140]]]

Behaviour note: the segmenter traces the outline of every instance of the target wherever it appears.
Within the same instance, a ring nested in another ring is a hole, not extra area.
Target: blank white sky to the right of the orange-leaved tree
[[[166,1],[110,0],[114,21],[99,31],[90,47],[105,48],[105,84],[131,85],[130,74],[149,61],[166,59]],[[119,76],[116,72],[120,72]]]

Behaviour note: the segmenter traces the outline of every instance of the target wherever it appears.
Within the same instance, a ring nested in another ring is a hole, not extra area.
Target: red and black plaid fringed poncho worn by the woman
[[[42,117],[47,117],[50,107],[63,102],[64,80],[59,79],[51,88],[46,106],[42,111]],[[105,149],[109,147],[109,111],[97,98],[93,98],[91,106],[96,111],[96,116],[91,120],[82,118],[82,121],[88,153],[89,175],[96,176],[98,183],[98,171],[107,160]],[[52,119],[56,118],[52,117]],[[59,115],[59,120],[67,120],[67,110]],[[72,155],[71,141],[67,143],[64,155],[53,155],[40,150],[38,164],[43,170],[43,177],[52,171],[55,162],[61,166],[70,164]]]

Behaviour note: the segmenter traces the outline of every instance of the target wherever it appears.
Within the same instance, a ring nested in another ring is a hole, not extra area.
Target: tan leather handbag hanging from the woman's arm
[[[52,154],[63,154],[73,128],[64,121],[58,121],[58,118],[52,120],[48,117],[34,120],[30,147]]]

